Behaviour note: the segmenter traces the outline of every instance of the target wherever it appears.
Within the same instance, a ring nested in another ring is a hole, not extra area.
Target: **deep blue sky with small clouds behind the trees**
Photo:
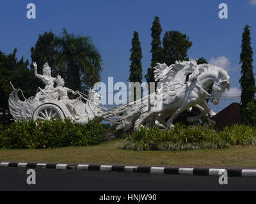
[[[28,3],[36,5],[36,19],[26,18]],[[228,6],[228,19],[220,19],[220,3]],[[0,50],[6,54],[18,49],[30,59],[30,48],[38,34],[50,31],[60,34],[63,27],[68,32],[92,36],[104,60],[102,82],[108,77],[114,82],[127,82],[129,57],[133,31],[138,31],[142,48],[143,75],[150,66],[150,28],[154,16],[161,20],[163,34],[175,30],[185,33],[193,42],[188,56],[191,59],[205,57],[208,62],[227,69],[232,89],[239,94],[239,54],[241,35],[246,24],[252,27],[252,47],[256,54],[256,1],[255,0],[182,0],[182,1],[1,1]],[[256,69],[256,57],[253,55]],[[145,80],[145,78],[143,78]],[[215,112],[239,100],[223,100],[212,107]]]

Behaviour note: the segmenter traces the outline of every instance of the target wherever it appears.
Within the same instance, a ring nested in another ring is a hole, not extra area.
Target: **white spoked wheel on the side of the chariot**
[[[65,119],[61,109],[53,104],[45,104],[39,106],[33,113],[33,120],[51,120],[51,119]]]

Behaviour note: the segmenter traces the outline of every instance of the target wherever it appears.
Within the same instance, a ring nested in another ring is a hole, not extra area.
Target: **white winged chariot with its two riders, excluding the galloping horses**
[[[24,101],[21,101],[18,97],[18,93],[22,92],[20,89],[13,87],[13,92],[9,97],[9,108],[15,120],[50,120],[50,119],[72,119],[76,122],[86,123],[88,120],[102,120],[100,115],[102,114],[101,107],[97,102],[101,98],[96,91],[91,89],[88,94],[88,98],[85,98],[85,94],[79,91],[73,91],[65,87],[63,78],[58,75],[56,78],[51,77],[51,68],[46,62],[44,64],[43,75],[38,75],[36,62],[33,62],[35,66],[35,77],[40,78],[44,82],[44,89],[40,89],[35,96],[31,96]],[[54,87],[56,83],[56,87]],[[79,95],[76,99],[69,99],[68,92],[74,95]],[[84,101],[86,101],[84,103]]]

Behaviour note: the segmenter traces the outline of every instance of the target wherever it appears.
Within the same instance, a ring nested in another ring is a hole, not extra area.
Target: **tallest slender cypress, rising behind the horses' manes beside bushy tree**
[[[151,51],[152,52],[152,59],[151,59],[151,64],[150,68],[148,68],[147,75],[145,75],[145,78],[147,82],[154,82],[154,66],[156,66],[156,63],[163,62],[163,57],[162,57],[162,47],[161,47],[161,33],[162,33],[162,28],[160,24],[159,17],[154,18],[153,25],[151,27],[151,37],[152,37],[152,42],[151,42]]]

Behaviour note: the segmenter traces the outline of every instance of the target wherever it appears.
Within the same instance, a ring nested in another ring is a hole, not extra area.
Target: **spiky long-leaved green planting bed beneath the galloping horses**
[[[120,148],[131,150],[195,150],[223,149],[230,145],[254,145],[256,128],[234,125],[218,132],[209,127],[187,127],[177,124],[161,131],[158,128],[141,128],[125,134]]]

